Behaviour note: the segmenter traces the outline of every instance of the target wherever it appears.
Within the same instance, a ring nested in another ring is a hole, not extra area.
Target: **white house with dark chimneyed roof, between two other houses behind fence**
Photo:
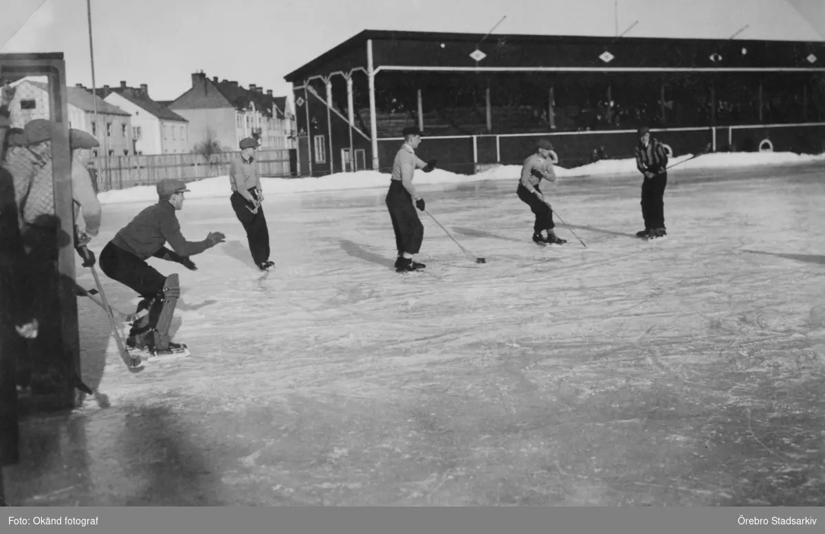
[[[120,87],[101,90],[103,100],[132,115],[132,137],[136,154],[182,154],[190,152],[189,121],[174,111],[153,101],[148,87]]]

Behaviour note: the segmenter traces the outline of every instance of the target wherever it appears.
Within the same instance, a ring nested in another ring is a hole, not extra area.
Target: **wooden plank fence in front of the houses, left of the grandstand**
[[[177,178],[192,181],[228,176],[229,165],[240,152],[220,152],[210,161],[200,154],[157,154],[151,156],[98,156],[92,158],[97,170],[97,190],[122,190],[135,185],[154,185]],[[295,150],[258,150],[255,152],[258,176],[288,178],[297,176]]]

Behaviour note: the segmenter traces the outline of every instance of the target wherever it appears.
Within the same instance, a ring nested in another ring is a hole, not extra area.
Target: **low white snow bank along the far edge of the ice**
[[[690,159],[690,155],[674,157],[671,164]],[[810,162],[825,162],[825,154],[795,154],[793,152],[717,152],[705,154],[695,160],[676,167],[676,171],[698,169],[718,169],[725,167],[747,167],[762,165],[789,165]],[[559,178],[582,176],[615,176],[637,173],[633,158],[623,160],[602,160],[578,166],[573,169],[556,167]],[[519,165],[501,165],[474,175],[460,175],[455,172],[436,169],[430,173],[417,172],[417,184],[455,184],[482,180],[517,180],[521,174]],[[384,188],[389,184],[389,174],[378,171],[338,172],[320,178],[262,178],[264,194],[305,193],[328,190],[353,190]],[[229,176],[205,178],[188,184],[191,193],[187,199],[208,199],[229,197]],[[140,185],[126,190],[106,191],[97,195],[101,204],[123,204],[130,202],[148,203],[158,199],[154,185]]]

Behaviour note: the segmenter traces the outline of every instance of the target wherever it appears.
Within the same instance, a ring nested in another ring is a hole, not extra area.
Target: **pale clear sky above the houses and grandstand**
[[[63,52],[69,85],[92,86],[87,0],[4,2],[0,53]],[[825,40],[823,0],[91,0],[97,87],[148,85],[154,100],[191,73],[290,95],[284,76],[361,30]],[[616,9],[616,6],[618,9]]]

